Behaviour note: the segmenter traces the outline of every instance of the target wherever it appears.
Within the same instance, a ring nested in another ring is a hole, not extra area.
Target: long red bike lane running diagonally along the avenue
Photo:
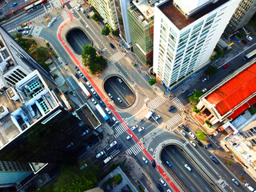
[[[62,0],[62,3],[65,3],[68,1],[64,1]],[[73,21],[73,14],[71,13],[70,10],[66,9],[70,15],[70,21],[65,22],[62,24],[62,26],[59,27],[58,30],[58,41],[62,43],[62,46],[65,48],[66,52],[68,54],[70,54],[70,57],[73,59],[74,63],[76,64],[76,66],[78,66],[79,70],[82,71],[82,74],[84,74],[84,76],[88,79],[88,81],[90,82],[90,84],[92,86],[94,86],[94,90],[96,90],[96,92],[98,93],[98,95],[102,98],[102,100],[106,103],[106,105],[110,108],[110,110],[112,110],[113,114],[118,118],[119,122],[122,123],[122,125],[126,128],[126,131],[128,132],[128,134],[132,134],[133,135],[133,139],[134,142],[138,143],[138,145],[141,147],[143,153],[146,155],[147,158],[150,159],[150,161],[152,161],[154,158],[150,155],[150,153],[144,148],[144,146],[142,145],[142,143],[138,140],[138,138],[135,136],[135,134],[128,128],[128,126],[126,125],[126,123],[123,121],[123,119],[121,118],[121,116],[118,114],[118,112],[114,109],[114,106],[112,106],[110,104],[110,102],[106,99],[105,95],[102,94],[102,91],[98,88],[98,86],[96,86],[96,84],[94,83],[94,81],[92,80],[92,78],[90,78],[89,74],[87,73],[87,71],[82,67],[81,63],[78,62],[78,59],[74,56],[74,54],[72,53],[72,51],[70,50],[70,48],[66,45],[66,42],[64,42],[64,40],[62,39],[62,30],[63,28],[68,25],[70,22]],[[174,191],[179,192],[180,190],[178,190],[177,186],[174,185],[174,182],[172,182],[170,180],[170,178],[166,175],[166,173],[164,172],[164,170],[162,170],[161,166],[157,166],[158,167],[158,171],[159,173],[162,175],[163,178],[165,178],[166,182],[171,186],[171,188]]]

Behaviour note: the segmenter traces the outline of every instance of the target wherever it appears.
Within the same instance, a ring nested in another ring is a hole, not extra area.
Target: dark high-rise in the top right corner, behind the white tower
[[[256,1],[254,0],[242,0],[237,9],[235,10],[232,18],[230,18],[230,22],[226,26],[226,30],[224,32],[225,37],[229,37],[230,35],[234,34],[236,30],[239,30],[243,26],[245,26],[249,21],[250,18],[256,12]]]

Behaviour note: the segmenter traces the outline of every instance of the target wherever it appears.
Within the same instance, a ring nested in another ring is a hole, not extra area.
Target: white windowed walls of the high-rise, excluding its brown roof
[[[158,6],[155,7],[153,70],[166,86],[170,86],[210,61],[210,55],[238,3],[239,0],[226,2],[182,30],[178,30]],[[189,33],[184,35],[188,31]],[[185,40],[182,41],[182,38]],[[181,47],[184,49],[181,50]]]

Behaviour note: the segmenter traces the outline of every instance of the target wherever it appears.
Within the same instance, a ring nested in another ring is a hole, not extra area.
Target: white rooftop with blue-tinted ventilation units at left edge
[[[59,104],[37,70],[0,96],[0,149]]]

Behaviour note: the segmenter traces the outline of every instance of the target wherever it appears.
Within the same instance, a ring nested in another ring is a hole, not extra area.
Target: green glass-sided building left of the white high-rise
[[[134,54],[144,65],[153,63],[154,4],[152,5],[145,0],[133,1],[128,9]]]

